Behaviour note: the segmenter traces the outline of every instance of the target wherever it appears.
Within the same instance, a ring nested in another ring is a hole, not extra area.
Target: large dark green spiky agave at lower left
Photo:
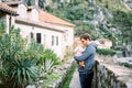
[[[8,80],[13,88],[25,88],[26,85],[33,84],[40,75],[34,59],[15,61],[11,68]]]

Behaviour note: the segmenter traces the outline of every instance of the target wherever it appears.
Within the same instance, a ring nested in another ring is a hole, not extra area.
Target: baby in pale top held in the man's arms
[[[80,56],[85,50],[82,48],[82,44],[81,44],[80,41],[78,41],[77,44],[78,44],[78,45],[77,45],[77,47],[74,50],[74,53],[75,53],[75,56]],[[85,62],[84,62],[84,61],[77,62],[77,63],[78,63],[78,65],[85,67]]]

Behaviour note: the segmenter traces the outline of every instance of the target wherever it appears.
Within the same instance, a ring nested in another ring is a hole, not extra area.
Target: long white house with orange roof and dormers
[[[18,2],[8,6],[18,12],[19,15],[13,18],[11,23],[21,29],[21,35],[28,43],[35,38],[36,43],[53,50],[61,59],[64,58],[66,48],[74,43],[74,24],[36,7],[26,7]]]

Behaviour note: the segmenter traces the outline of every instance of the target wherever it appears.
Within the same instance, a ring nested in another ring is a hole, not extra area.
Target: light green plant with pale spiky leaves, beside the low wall
[[[44,50],[43,54],[38,58],[38,64],[41,66],[41,77],[51,74],[54,66],[59,64],[59,58],[52,50]]]

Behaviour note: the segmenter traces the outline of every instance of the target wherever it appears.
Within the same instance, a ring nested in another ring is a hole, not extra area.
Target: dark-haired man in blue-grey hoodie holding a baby
[[[77,62],[85,62],[85,67],[78,64],[79,80],[81,88],[91,88],[94,78],[94,65],[96,55],[96,45],[90,42],[90,35],[88,33],[80,36],[80,41],[86,50],[80,56],[74,56]]]

